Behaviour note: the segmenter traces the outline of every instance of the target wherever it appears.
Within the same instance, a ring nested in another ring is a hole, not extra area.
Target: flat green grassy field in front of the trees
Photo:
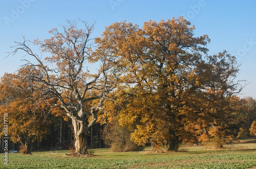
[[[1,169],[256,169],[256,144],[225,145],[226,149],[207,150],[204,146],[181,146],[182,152],[110,152],[94,149],[93,157],[65,156],[68,150],[10,154]],[[2,159],[4,154],[1,154]]]

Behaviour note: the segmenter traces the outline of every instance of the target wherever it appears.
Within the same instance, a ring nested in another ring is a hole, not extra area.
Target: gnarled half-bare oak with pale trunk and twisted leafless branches
[[[30,78],[47,87],[45,98],[55,100],[55,106],[71,118],[76,152],[85,154],[90,127],[96,123],[98,113],[103,113],[103,102],[116,86],[119,76],[107,54],[101,57],[93,55],[90,35],[94,24],[81,21],[85,28],[79,29],[78,22],[67,23],[67,26],[62,26],[62,32],[54,28],[49,31],[51,38],[43,41],[35,39],[33,42],[49,55],[44,60],[32,51],[29,47],[31,41],[24,37],[23,42],[15,42],[16,45],[12,47],[14,51],[9,55],[23,51],[26,54],[24,66],[30,65],[40,70],[37,76],[31,71]],[[28,56],[32,58],[27,59]],[[88,63],[99,65],[97,73],[90,73],[85,66]]]

